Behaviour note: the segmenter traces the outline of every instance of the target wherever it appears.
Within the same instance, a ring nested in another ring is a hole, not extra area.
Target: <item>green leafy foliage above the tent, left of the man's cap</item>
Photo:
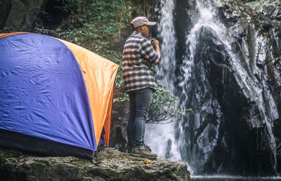
[[[131,1],[107,0],[64,0],[62,11],[70,15],[67,29],[48,31],[60,39],[65,39],[103,55],[110,49],[112,39],[120,34],[131,20]],[[46,33],[46,29],[36,29]]]

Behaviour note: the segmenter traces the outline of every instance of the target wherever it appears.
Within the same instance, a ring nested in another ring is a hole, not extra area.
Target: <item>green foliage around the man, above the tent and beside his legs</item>
[[[65,26],[58,29],[35,28],[34,32],[48,34],[59,39],[70,41],[89,49],[119,65],[117,72],[114,106],[128,105],[129,96],[124,92],[122,78],[122,53],[112,49],[112,40],[129,27],[133,18],[131,12],[142,14],[141,7],[125,0],[64,0],[61,11],[69,14]],[[185,112],[176,109],[177,98],[158,83],[153,95],[150,122],[167,121],[171,117],[181,116]]]

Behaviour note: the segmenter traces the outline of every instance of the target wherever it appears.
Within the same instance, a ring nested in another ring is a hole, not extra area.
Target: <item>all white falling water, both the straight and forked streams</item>
[[[266,128],[268,130],[268,134],[270,137],[268,138],[270,142],[270,147],[273,152],[273,156],[275,159],[274,168],[276,169],[276,145],[275,145],[275,138],[273,135],[272,130],[272,122],[267,119],[266,113],[264,112],[264,105],[263,103],[263,89],[259,86],[254,76],[249,76],[247,70],[245,69],[244,65],[242,65],[242,61],[240,58],[234,53],[231,42],[234,42],[235,39],[230,36],[229,31],[222,22],[220,22],[216,17],[218,13],[216,12],[216,7],[214,7],[214,3],[216,1],[211,0],[197,0],[196,1],[196,8],[198,11],[197,17],[195,20],[192,20],[193,26],[190,29],[190,32],[186,36],[186,46],[188,53],[183,58],[183,63],[181,67],[181,72],[183,72],[183,79],[178,83],[178,86],[181,87],[182,93],[181,95],[185,95],[185,98],[181,100],[181,107],[182,109],[185,108],[186,102],[188,101],[188,95],[185,92],[185,86],[189,82],[190,76],[192,74],[192,68],[194,66],[195,60],[195,51],[196,45],[198,42],[198,34],[202,28],[207,28],[211,31],[214,36],[216,36],[216,44],[222,45],[228,55],[230,56],[230,60],[232,60],[232,65],[230,69],[233,72],[237,72],[235,74],[235,79],[237,79],[237,83],[239,83],[240,87],[242,88],[243,94],[249,98],[249,100],[256,102],[259,106],[259,111],[264,115],[264,122]],[[161,51],[162,51],[162,62],[157,67],[157,77],[160,81],[171,85],[171,90],[174,90],[173,83],[175,80],[174,71],[175,71],[175,48],[176,48],[176,38],[174,32],[174,22],[173,22],[173,11],[174,11],[174,1],[170,0],[163,0],[161,1],[161,6],[156,9],[159,12],[159,26],[158,32],[159,36],[162,39],[161,44]],[[257,37],[257,35],[255,35]],[[256,38],[255,40],[256,46],[264,46],[264,41]],[[242,46],[247,46],[247,43],[244,43]],[[244,48],[247,49],[247,48]],[[258,48],[256,47],[254,51],[257,51]],[[260,60],[265,60],[266,53],[260,53]],[[248,59],[246,59],[247,63],[249,64]],[[249,66],[251,67],[251,66]],[[256,73],[256,69],[252,69],[252,74]],[[265,93],[267,94],[267,93]],[[272,109],[271,117],[275,118],[276,115],[276,105],[273,101],[273,98],[268,93],[268,98],[270,100],[270,109]],[[195,115],[195,126],[199,127],[200,122],[200,114]],[[253,126],[259,127],[256,125],[259,123],[254,123]],[[175,126],[178,126],[175,130]],[[151,146],[152,151],[156,152],[160,157],[169,157],[170,159],[181,160],[181,154],[179,152],[179,147],[183,140],[188,142],[188,138],[183,138],[183,127],[181,123],[169,123],[169,124],[150,124],[147,127],[145,140],[148,142],[148,145]],[[175,131],[179,132],[180,138],[175,140]],[[214,147],[216,146],[216,140],[218,137],[218,128],[216,128],[216,136],[213,140],[209,140],[209,145],[204,144],[206,138],[204,135],[200,136],[200,139],[197,141],[198,147],[204,153],[204,157],[202,158],[201,162],[207,161],[209,153],[212,152]],[[171,153],[168,154],[167,153]],[[197,153],[190,153],[189,156]],[[196,156],[195,156],[196,157]],[[192,161],[193,158],[188,158],[187,160]],[[194,161],[196,162],[196,161]],[[200,162],[197,160],[197,162]],[[195,163],[194,163],[195,164]],[[198,163],[200,165],[200,163]],[[192,165],[192,164],[191,164]],[[192,168],[189,168],[192,174]]]

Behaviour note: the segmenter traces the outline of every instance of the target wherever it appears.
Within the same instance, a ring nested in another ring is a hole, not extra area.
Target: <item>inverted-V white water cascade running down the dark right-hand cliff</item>
[[[231,47],[231,44],[230,44],[230,42],[233,42],[233,40],[231,40],[231,36],[228,34],[228,29],[226,29],[226,27],[223,25],[223,23],[221,23],[218,19],[216,19],[216,15],[218,13],[216,12],[216,8],[211,6],[213,4],[213,2],[210,0],[207,0],[207,1],[197,0],[196,3],[197,3],[197,10],[199,11],[199,15],[198,15],[197,20],[195,20],[195,22],[196,22],[195,25],[192,27],[192,29],[190,30],[190,33],[188,34],[188,38],[186,41],[186,46],[188,46],[188,52],[186,54],[187,56],[186,56],[185,60],[183,61],[183,65],[182,65],[182,72],[184,72],[184,74],[183,74],[184,79],[182,79],[182,81],[178,84],[178,87],[182,87],[181,95],[183,95],[183,97],[185,97],[185,100],[183,100],[183,98],[181,98],[181,108],[184,108],[186,105],[186,102],[188,101],[188,95],[187,95],[188,93],[185,92],[185,90],[186,90],[185,87],[191,76],[190,72],[192,72],[192,65],[193,65],[194,59],[195,59],[195,51],[196,51],[195,48],[197,48],[199,32],[203,27],[205,27],[205,28],[211,30],[211,32],[217,38],[215,40],[215,41],[217,41],[216,44],[222,44],[222,46],[226,48],[228,55],[230,55],[230,59],[233,60],[232,68],[234,69],[235,72],[239,73],[239,74],[236,74],[237,76],[239,76],[239,77],[236,77],[236,79],[240,80],[240,81],[238,81],[241,84],[240,86],[242,88],[244,88],[243,89],[244,91],[246,91],[244,94],[248,95],[249,96],[248,98],[251,101],[259,103],[259,110],[264,115],[264,121],[266,122],[266,126],[268,128],[268,133],[270,135],[269,142],[270,142],[270,147],[271,147],[273,155],[274,155],[274,159],[275,159],[274,169],[276,170],[275,138],[273,136],[272,125],[271,125],[270,121],[268,121],[267,117],[265,116],[265,113],[263,112],[264,105],[263,105],[262,89],[259,88],[259,86],[256,86],[257,85],[256,80],[252,79],[252,77],[248,76],[247,70],[244,69],[244,67],[241,65],[242,61],[240,60],[240,58],[237,57],[237,55],[235,55],[235,53],[233,53],[233,48]],[[259,41],[260,44],[262,44],[262,42],[263,41]],[[259,55],[266,55],[266,53],[263,53],[263,54],[261,53]],[[264,59],[264,58],[261,58],[261,60],[262,59]],[[223,65],[223,66],[225,66],[225,65]],[[185,95],[187,95],[187,96],[185,96]],[[269,98],[270,98],[270,96],[269,96]],[[274,108],[276,109],[276,107],[274,107]],[[275,112],[276,111],[273,111],[273,114]],[[197,125],[197,127],[199,127],[200,115],[195,116],[195,125]],[[216,129],[216,131],[218,131],[218,129]],[[214,146],[216,145],[217,135],[218,135],[218,132],[216,132],[216,136],[215,136],[214,140],[209,141],[209,142],[211,142],[211,145],[206,145],[203,143],[204,140],[206,140],[206,138],[202,138],[202,142],[200,144],[198,144],[198,146],[200,147],[200,150],[202,150],[202,152],[204,152],[204,154],[203,154],[204,157],[202,158],[203,163],[208,159],[209,152],[212,152],[212,150],[214,149]],[[203,137],[204,137],[204,135],[203,135]],[[182,139],[186,139],[186,138],[182,138]],[[194,153],[194,154],[196,154],[196,153]],[[193,159],[187,159],[187,160],[189,160],[189,162],[194,161]],[[194,162],[195,162],[195,164],[198,164],[198,160],[196,160]]]

